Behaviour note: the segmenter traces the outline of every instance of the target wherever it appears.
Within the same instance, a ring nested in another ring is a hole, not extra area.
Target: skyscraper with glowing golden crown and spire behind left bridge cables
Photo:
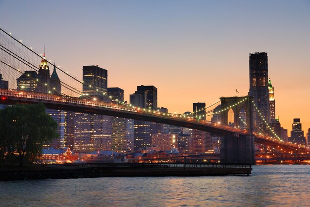
[[[48,61],[46,60],[45,53],[39,66],[38,79],[38,86],[36,89],[37,92],[48,93],[50,87],[50,68]]]

